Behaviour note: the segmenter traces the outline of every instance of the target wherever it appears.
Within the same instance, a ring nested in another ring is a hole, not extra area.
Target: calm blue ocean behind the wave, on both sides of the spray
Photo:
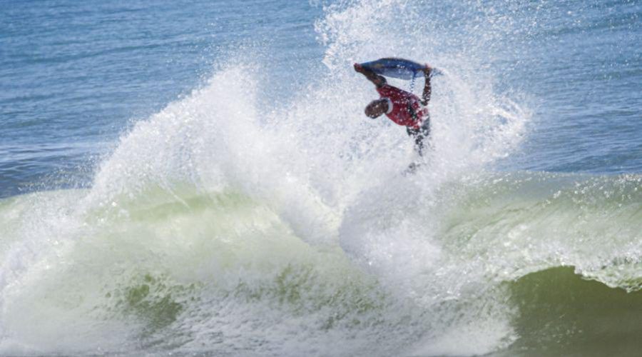
[[[305,1],[20,1],[2,7],[2,196],[40,189],[59,171],[86,181],[88,157],[108,151],[131,121],[197,87],[238,46],[262,57],[268,88],[286,99],[323,71],[313,26],[322,9]],[[515,166],[640,171],[639,4],[506,7],[527,15],[516,20],[513,38],[494,45],[502,58],[477,60],[479,71],[499,67],[497,85],[524,89],[536,111],[523,149],[514,153],[521,156]],[[292,82],[298,86],[287,85]]]

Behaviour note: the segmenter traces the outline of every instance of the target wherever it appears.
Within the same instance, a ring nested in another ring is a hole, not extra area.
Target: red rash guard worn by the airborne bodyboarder
[[[392,103],[392,108],[389,107],[386,113],[390,120],[412,129],[422,126],[428,111],[422,107],[418,96],[388,84],[380,86],[377,91],[382,98],[390,100],[388,106]]]

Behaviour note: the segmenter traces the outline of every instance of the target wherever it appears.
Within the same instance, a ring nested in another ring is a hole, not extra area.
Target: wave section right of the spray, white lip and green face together
[[[464,191],[443,241],[508,289],[518,337],[497,356],[638,354],[640,176],[510,174]]]

